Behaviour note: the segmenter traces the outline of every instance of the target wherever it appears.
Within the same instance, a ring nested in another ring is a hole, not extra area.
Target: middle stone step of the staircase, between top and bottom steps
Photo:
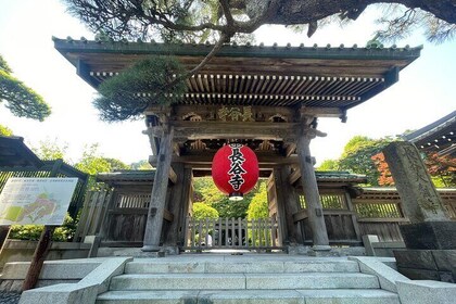
[[[377,277],[352,273],[136,274],[112,278],[110,290],[375,289]]]

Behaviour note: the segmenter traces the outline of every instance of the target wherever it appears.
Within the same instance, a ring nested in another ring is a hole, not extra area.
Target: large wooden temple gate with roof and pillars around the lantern
[[[174,55],[191,69],[212,49],[206,45],[71,38],[54,38],[54,47],[96,89],[150,55]],[[314,250],[330,250],[330,237],[359,241],[353,205],[331,212],[322,206],[311,141],[325,136],[317,129],[319,118],[345,123],[351,107],[396,83],[400,71],[419,56],[420,49],[226,45],[186,80],[187,92],[177,102],[156,104],[154,92],[137,92],[135,97],[149,103],[143,112],[144,134],[152,151],[149,161],[156,167],[152,189],[148,189],[150,202],[129,207],[141,212],[135,217],[115,216],[110,210],[111,219],[102,226],[137,225],[132,218],[140,217],[145,221],[142,251],[185,248],[191,179],[211,174],[215,152],[237,142],[255,151],[261,176],[270,180],[270,208],[283,244],[312,242]],[[338,191],[347,193],[343,187]],[[301,194],[306,213],[295,203]],[[341,225],[351,232],[331,230]]]

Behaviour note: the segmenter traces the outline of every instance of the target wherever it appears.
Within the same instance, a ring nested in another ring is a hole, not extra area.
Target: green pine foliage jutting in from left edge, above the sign
[[[13,71],[0,55],[0,102],[18,117],[42,122],[51,114],[51,109],[41,96],[12,76]]]

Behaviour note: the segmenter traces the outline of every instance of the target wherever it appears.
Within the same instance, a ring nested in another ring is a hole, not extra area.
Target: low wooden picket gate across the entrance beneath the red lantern
[[[279,223],[275,218],[187,217],[187,250],[207,249],[280,249]]]

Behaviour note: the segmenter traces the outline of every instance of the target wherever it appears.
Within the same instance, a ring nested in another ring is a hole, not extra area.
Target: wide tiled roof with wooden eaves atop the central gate
[[[211,45],[89,41],[54,38],[54,47],[80,77],[97,88],[148,55],[172,54],[188,69]],[[401,69],[421,47],[293,47],[226,45],[197,75],[187,79],[180,104],[232,104],[307,107],[355,106],[397,81]],[[138,92],[143,97],[153,92]]]

